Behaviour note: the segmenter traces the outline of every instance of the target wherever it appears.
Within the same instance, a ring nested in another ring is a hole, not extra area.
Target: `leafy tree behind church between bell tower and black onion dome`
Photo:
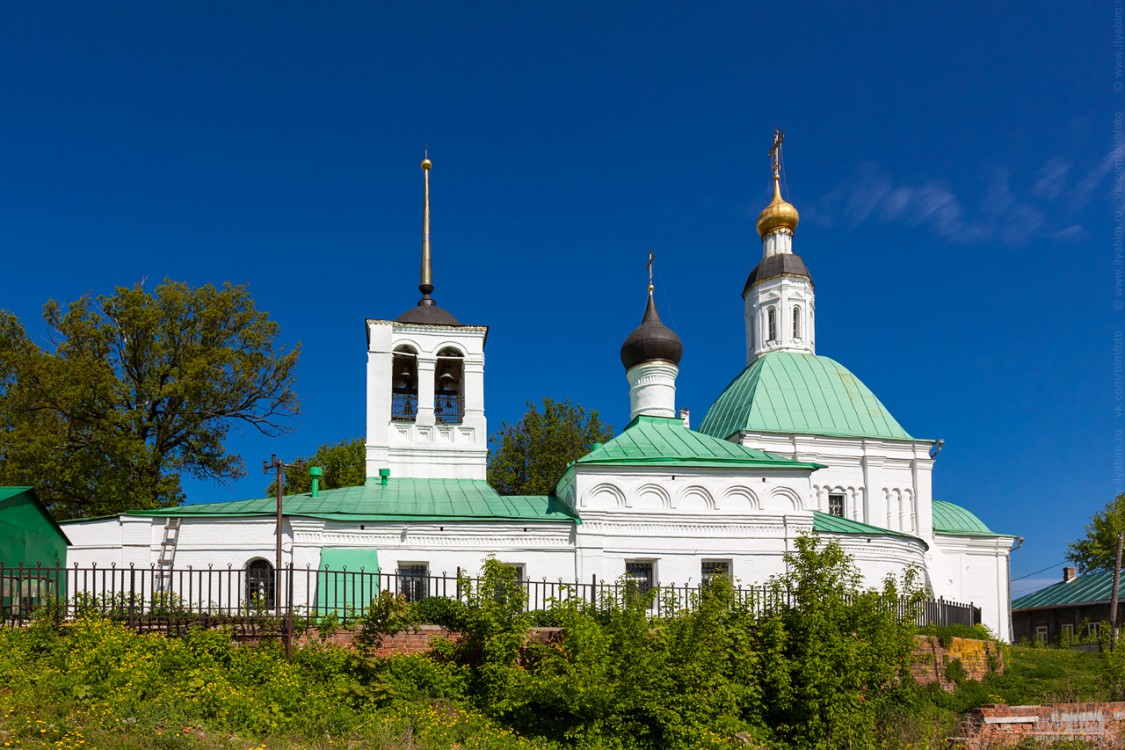
[[[488,482],[501,495],[550,495],[567,463],[613,437],[613,427],[597,412],[570,399],[543,399],[542,412],[528,403],[520,423],[501,425],[493,434]]]

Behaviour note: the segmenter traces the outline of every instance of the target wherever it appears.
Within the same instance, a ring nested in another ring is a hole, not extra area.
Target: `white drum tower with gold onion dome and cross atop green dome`
[[[762,262],[742,288],[746,317],[746,363],[770,352],[817,353],[812,277],[793,252],[793,233],[800,216],[781,197],[781,144],[785,134],[774,130],[770,161],[773,200],[758,215]]]

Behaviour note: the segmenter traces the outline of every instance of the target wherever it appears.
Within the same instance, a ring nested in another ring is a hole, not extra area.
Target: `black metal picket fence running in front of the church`
[[[692,611],[706,584],[695,586],[649,585],[629,579],[565,582],[518,579],[524,608],[549,609],[558,602],[577,599],[597,608],[644,595],[652,617],[669,617]],[[432,576],[418,570],[328,570],[268,564],[249,568],[4,568],[0,564],[0,625],[26,624],[37,609],[50,607],[58,618],[72,620],[97,612],[141,630],[181,632],[191,625],[228,625],[236,633],[261,635],[291,632],[332,617],[341,625],[361,618],[382,591],[408,602],[446,597],[466,602],[478,594],[482,579],[457,571]],[[502,591],[497,591],[502,595]],[[789,607],[786,593],[772,586],[736,587],[731,606],[762,615]],[[899,616],[912,616],[918,625],[976,625],[980,608],[971,604],[902,600]]]

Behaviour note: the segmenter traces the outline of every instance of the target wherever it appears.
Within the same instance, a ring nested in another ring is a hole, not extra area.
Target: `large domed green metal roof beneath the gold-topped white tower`
[[[699,430],[722,439],[750,430],[914,440],[843,364],[795,352],[755,360],[716,399]]]

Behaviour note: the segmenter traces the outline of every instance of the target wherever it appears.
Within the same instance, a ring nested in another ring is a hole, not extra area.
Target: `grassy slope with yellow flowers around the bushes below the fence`
[[[313,645],[287,662],[276,643],[232,648],[213,631],[164,639],[101,621],[66,630],[0,631],[0,750],[558,747],[521,738],[474,708],[464,699],[464,671],[440,659],[356,661]],[[962,683],[952,694],[937,686],[911,692],[888,717],[884,746],[945,747],[961,714],[982,704],[1106,701],[1120,697],[1125,684],[1109,679],[1125,667],[1099,653],[1006,647],[1006,661],[1007,674]],[[582,747],[622,747],[612,732],[602,740]]]

